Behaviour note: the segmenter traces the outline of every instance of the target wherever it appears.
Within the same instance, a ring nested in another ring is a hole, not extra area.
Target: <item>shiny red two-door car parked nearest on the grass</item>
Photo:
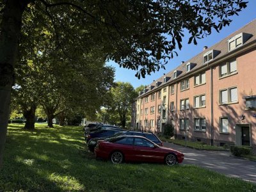
[[[172,148],[159,147],[141,136],[119,136],[108,141],[97,141],[95,156],[111,159],[112,163],[143,161],[166,163],[170,166],[182,163],[184,154]]]

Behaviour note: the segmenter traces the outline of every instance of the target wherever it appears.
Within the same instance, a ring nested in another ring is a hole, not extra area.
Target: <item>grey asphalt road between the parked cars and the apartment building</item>
[[[230,156],[230,152],[206,151],[186,148],[173,143],[164,143],[164,147],[179,150],[185,155],[183,164],[196,164],[230,177],[256,183],[256,162]]]

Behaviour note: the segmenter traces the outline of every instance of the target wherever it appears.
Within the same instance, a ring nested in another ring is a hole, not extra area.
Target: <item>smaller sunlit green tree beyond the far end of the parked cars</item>
[[[117,82],[116,86],[111,88],[112,102],[109,113],[115,116],[118,114],[120,124],[125,127],[128,116],[131,116],[132,102],[138,96],[130,83]]]

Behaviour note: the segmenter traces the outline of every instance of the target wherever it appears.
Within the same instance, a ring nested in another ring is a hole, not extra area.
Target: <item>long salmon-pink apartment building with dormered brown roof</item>
[[[136,100],[136,127],[256,150],[256,20],[152,82]]]

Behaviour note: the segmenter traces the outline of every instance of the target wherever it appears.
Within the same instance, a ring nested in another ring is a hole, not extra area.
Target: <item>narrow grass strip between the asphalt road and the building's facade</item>
[[[164,137],[160,137],[162,141],[168,141],[169,143],[175,143],[177,145],[182,145],[182,146],[186,146],[190,147],[190,148],[196,148],[199,150],[225,150],[225,148],[223,147],[218,147],[218,146],[211,146],[211,145],[207,145],[206,143],[203,142],[198,142],[198,141],[187,141],[185,142],[185,140],[173,140],[173,139],[166,139]]]

